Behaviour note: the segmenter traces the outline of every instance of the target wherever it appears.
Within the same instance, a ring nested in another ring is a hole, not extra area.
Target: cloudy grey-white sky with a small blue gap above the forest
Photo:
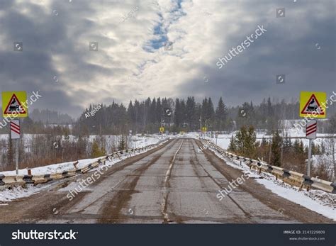
[[[219,69],[258,25],[267,32]],[[237,105],[336,91],[334,0],[0,0],[0,30],[1,91],[40,91],[34,107],[73,117],[148,96]]]

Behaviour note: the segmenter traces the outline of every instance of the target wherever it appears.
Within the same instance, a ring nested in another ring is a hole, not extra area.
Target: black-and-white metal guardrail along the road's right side
[[[272,166],[270,164],[267,164],[265,162],[260,162],[259,160],[253,160],[247,157],[242,157],[235,155],[233,153],[230,153],[228,151],[223,150],[218,145],[214,145],[212,142],[200,139],[203,145],[206,145],[209,149],[216,150],[220,153],[220,155],[224,155],[225,157],[229,157],[232,160],[238,160],[245,162],[250,169],[254,168],[259,170],[260,172],[267,172],[270,174],[273,174],[276,179],[283,179],[286,183],[295,185],[299,187],[299,191],[303,189],[303,186],[306,186],[307,191],[311,187],[315,189],[320,189],[322,191],[330,192],[332,194],[336,194],[336,183],[326,181],[323,179],[318,179],[315,177],[309,177],[306,174],[301,174],[298,172],[294,172],[291,170],[287,170],[281,167]]]

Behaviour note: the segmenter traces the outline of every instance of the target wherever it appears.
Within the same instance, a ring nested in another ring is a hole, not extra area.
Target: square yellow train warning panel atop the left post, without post
[[[26,91],[2,92],[2,116],[12,118],[28,116]]]

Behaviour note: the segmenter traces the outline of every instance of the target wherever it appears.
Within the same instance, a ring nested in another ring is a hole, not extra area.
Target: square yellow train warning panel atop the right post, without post
[[[327,94],[318,91],[301,91],[300,117],[325,118]]]

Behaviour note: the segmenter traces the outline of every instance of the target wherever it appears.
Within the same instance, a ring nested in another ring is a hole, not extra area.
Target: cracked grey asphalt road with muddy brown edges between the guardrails
[[[0,223],[333,223],[253,179],[219,201],[218,190],[242,173],[198,145],[171,140],[119,162],[72,201],[67,189],[78,177],[53,184],[1,206]]]

